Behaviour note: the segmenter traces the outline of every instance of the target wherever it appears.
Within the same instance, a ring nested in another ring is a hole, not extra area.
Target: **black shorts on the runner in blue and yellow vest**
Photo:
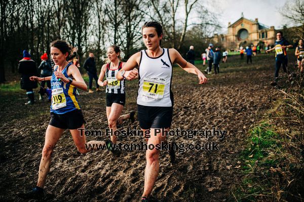
[[[86,123],[81,110],[73,110],[65,114],[55,114],[51,112],[49,125],[62,129],[77,129]]]

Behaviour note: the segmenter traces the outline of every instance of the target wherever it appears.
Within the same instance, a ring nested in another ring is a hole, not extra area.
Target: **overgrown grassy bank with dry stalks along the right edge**
[[[285,90],[274,91],[272,109],[249,131],[247,148],[239,156],[242,177],[232,190],[234,200],[302,201],[304,91],[299,76],[297,86],[289,81]]]

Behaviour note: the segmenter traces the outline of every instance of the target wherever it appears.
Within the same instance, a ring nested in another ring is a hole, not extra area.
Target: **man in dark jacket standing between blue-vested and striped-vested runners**
[[[93,53],[89,53],[89,58],[85,61],[84,68],[87,70],[87,73],[89,75],[89,92],[93,92],[92,90],[93,78],[96,81],[96,91],[99,91],[99,85],[97,83],[98,81],[97,69],[96,69],[96,63]]]

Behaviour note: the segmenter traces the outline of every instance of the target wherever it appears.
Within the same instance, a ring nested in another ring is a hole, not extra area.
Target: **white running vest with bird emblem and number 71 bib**
[[[150,107],[172,107],[173,105],[173,94],[171,92],[172,62],[169,49],[162,49],[162,55],[157,58],[150,58],[145,50],[141,51],[138,68],[138,105]]]

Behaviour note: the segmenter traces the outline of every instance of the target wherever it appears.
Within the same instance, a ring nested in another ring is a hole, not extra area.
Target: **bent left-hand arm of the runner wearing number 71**
[[[140,52],[134,54],[129,58],[129,60],[126,62],[126,64],[123,66],[123,68],[116,74],[117,80],[124,80],[124,77],[121,75],[121,72],[125,70],[124,76],[128,78],[128,80],[133,80],[138,75],[138,71],[133,70],[135,67],[139,65],[140,60]],[[127,72],[130,71],[130,72]]]

